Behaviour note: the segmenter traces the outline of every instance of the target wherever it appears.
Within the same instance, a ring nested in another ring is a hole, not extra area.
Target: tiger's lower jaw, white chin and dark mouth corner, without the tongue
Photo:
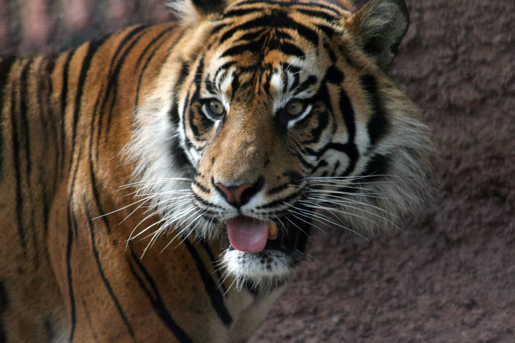
[[[225,273],[235,279],[237,287],[266,292],[283,285],[293,276],[294,267],[304,257],[310,225],[291,219],[288,223],[289,226],[269,222],[268,239],[260,251],[238,250],[231,244],[231,239],[227,239],[222,265]]]

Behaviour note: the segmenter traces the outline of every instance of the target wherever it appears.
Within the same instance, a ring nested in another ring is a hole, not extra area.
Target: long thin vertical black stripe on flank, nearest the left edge
[[[14,176],[16,180],[16,226],[18,236],[23,248],[23,256],[27,254],[27,240],[25,238],[25,227],[23,224],[23,196],[21,177],[20,141],[18,137],[18,125],[16,124],[16,94],[14,87],[11,89],[11,126],[12,126],[12,156],[14,160]]]

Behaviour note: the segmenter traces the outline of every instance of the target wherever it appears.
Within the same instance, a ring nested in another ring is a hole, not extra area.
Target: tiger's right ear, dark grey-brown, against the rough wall
[[[409,25],[404,0],[372,0],[346,22],[367,55],[384,71],[390,67]]]

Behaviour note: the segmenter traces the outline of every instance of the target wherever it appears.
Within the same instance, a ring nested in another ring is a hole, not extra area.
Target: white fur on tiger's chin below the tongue
[[[260,288],[276,287],[291,276],[290,257],[277,250],[263,250],[257,254],[239,250],[226,250],[222,258],[225,272],[238,284],[252,281]]]

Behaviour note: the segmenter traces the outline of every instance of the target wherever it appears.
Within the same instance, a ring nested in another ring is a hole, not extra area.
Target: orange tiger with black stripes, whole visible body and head
[[[313,230],[421,213],[402,0],[170,6],[0,60],[0,341],[246,341]]]

